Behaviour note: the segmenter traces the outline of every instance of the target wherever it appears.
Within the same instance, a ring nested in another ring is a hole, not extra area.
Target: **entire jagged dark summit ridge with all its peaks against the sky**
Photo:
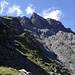
[[[20,23],[24,28],[39,34],[43,31],[47,33],[46,35],[54,35],[59,31],[74,33],[70,28],[65,28],[60,21],[51,18],[44,19],[37,13],[33,13],[30,19],[22,17]]]

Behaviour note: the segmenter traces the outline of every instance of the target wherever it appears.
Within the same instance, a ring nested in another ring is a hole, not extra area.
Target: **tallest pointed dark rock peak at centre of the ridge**
[[[47,20],[36,13],[33,13],[30,19],[34,26],[39,29],[50,28],[50,25]]]

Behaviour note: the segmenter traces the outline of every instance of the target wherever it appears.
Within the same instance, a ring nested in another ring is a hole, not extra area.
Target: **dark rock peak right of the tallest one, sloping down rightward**
[[[74,32],[70,28],[64,27],[64,25],[60,21],[57,21],[51,18],[48,18],[47,21],[55,33],[59,31],[64,31],[64,32],[71,32],[74,34]]]

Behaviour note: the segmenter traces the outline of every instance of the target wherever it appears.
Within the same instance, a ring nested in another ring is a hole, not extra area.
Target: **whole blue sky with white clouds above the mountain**
[[[75,0],[0,0],[0,16],[27,16],[33,12],[52,18],[75,32]]]

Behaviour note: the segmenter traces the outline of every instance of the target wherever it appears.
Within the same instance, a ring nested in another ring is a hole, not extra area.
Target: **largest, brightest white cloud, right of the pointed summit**
[[[60,18],[62,17],[63,13],[61,10],[54,10],[52,8],[49,8],[47,10],[44,10],[42,12],[42,16],[44,18],[52,18],[52,19],[55,19],[55,20],[60,20]]]

